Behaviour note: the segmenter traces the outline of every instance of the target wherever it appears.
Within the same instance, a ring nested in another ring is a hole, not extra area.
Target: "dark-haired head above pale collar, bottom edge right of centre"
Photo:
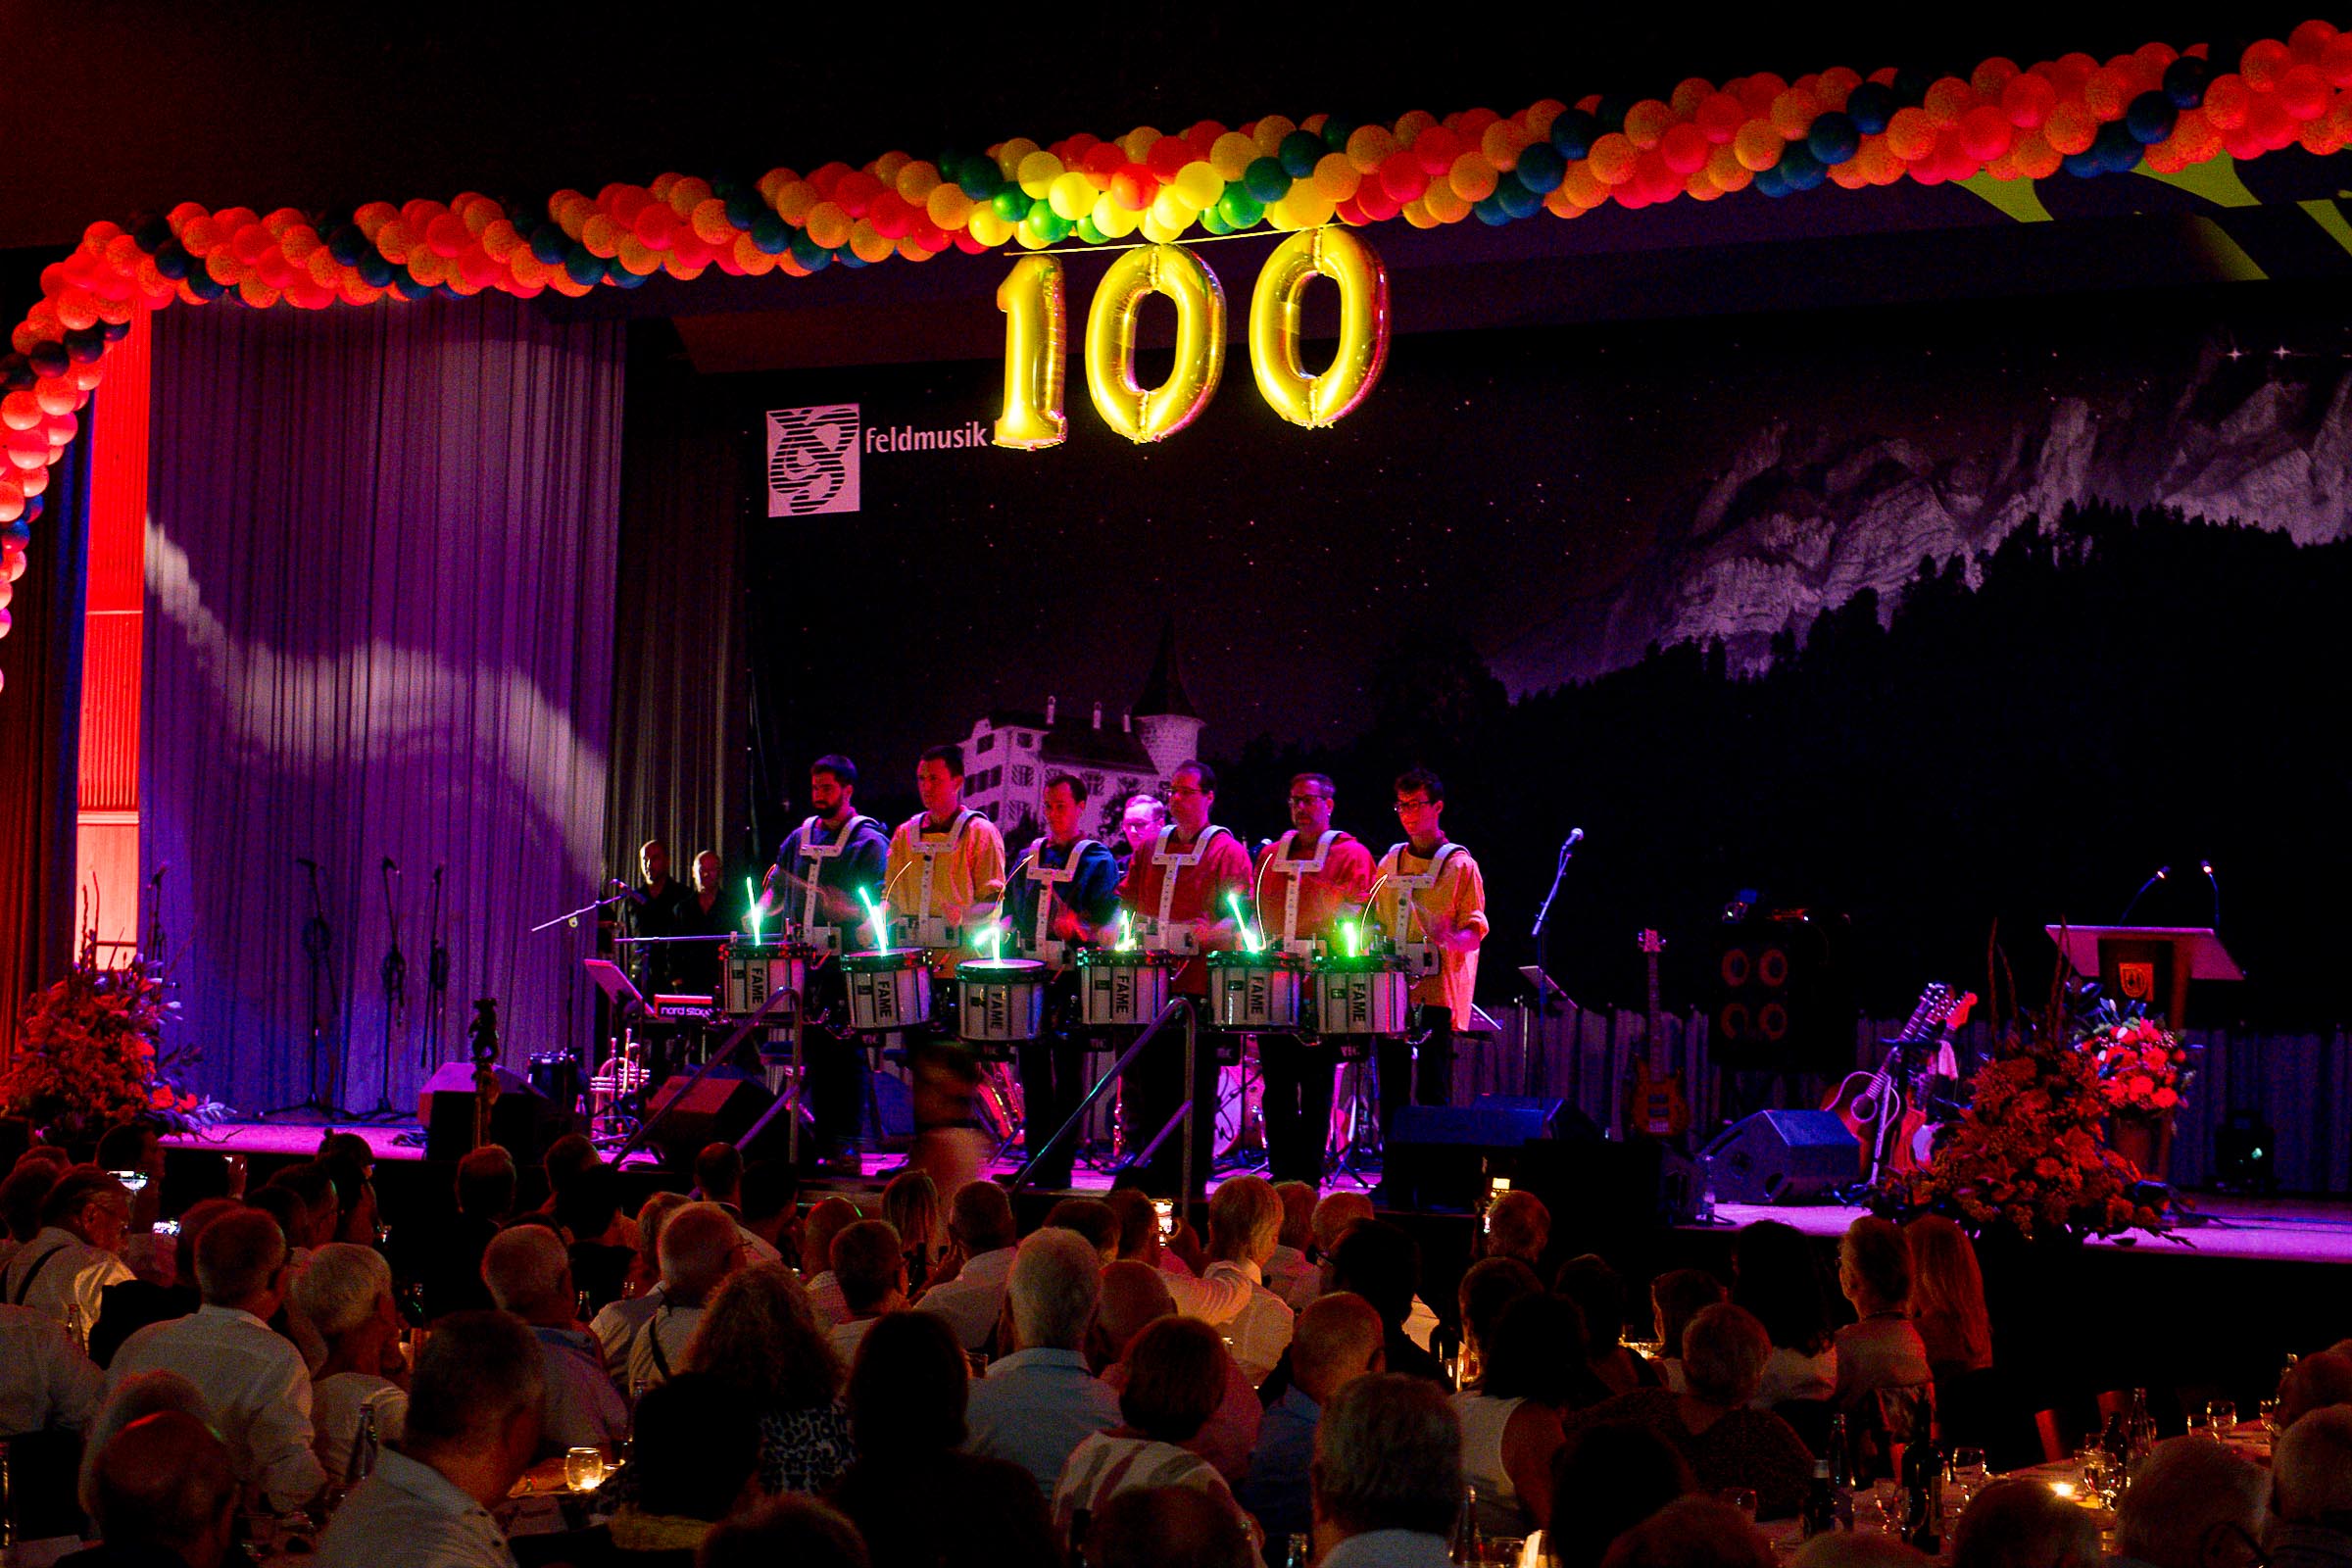
[[[1463,1502],[1463,1434],[1444,1389],[1374,1373],[1315,1429],[1317,1568],[1444,1568]]]

